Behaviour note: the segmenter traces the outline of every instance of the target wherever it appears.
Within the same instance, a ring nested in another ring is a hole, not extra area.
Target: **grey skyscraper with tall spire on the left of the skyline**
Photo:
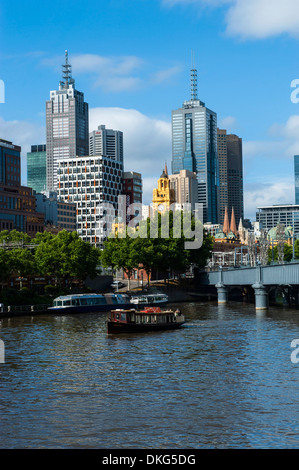
[[[62,65],[63,80],[59,90],[50,92],[46,102],[47,189],[57,190],[58,162],[65,158],[88,155],[88,104],[75,88],[68,53]]]

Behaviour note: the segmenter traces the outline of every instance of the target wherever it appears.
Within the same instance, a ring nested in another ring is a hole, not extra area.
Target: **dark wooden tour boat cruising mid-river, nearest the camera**
[[[108,333],[139,333],[146,331],[173,330],[185,323],[185,316],[179,311],[147,307],[142,310],[111,310],[107,319]]]

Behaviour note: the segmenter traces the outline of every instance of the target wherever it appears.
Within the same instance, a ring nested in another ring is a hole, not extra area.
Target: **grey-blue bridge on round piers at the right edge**
[[[299,262],[226,270],[220,267],[218,271],[201,272],[200,284],[216,287],[219,304],[227,302],[228,293],[234,287],[252,287],[257,310],[268,308],[269,293],[277,287],[288,293],[288,297],[295,296],[295,304],[298,304]]]

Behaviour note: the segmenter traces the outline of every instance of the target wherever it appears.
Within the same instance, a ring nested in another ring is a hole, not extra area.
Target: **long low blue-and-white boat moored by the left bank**
[[[130,298],[126,294],[72,294],[54,299],[51,313],[109,312],[117,306],[130,308]]]

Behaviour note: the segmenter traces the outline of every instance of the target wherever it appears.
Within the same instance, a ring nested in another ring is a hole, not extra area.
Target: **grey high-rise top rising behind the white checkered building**
[[[123,133],[98,126],[89,133],[89,155],[105,155],[119,162],[124,161]]]

